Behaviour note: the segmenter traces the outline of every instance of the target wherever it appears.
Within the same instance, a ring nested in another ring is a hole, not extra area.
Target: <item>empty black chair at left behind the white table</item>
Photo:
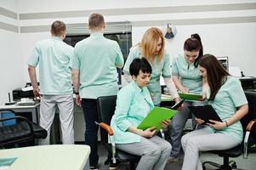
[[[15,111],[7,109],[0,110],[0,115],[5,112],[11,112],[16,115]],[[4,123],[10,120],[16,120],[16,122]],[[11,116],[0,118],[0,148],[10,148],[15,144],[28,144],[34,139],[45,139],[46,137],[47,131],[36,123],[29,121],[26,117]]]

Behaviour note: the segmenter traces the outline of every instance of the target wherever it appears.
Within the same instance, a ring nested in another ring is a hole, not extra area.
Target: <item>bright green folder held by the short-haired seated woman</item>
[[[137,128],[145,130],[149,127],[156,127],[157,130],[160,130],[161,122],[165,119],[170,119],[176,114],[176,111],[163,108],[163,107],[154,107],[151,112],[145,117],[145,119],[139,123]]]

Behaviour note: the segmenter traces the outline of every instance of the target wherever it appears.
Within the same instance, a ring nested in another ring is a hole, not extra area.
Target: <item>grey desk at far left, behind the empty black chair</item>
[[[37,103],[36,105],[0,105],[0,109],[10,109],[17,113],[19,116],[24,116],[22,113],[29,112],[31,113],[31,118],[26,117],[30,119],[32,122],[38,123],[39,122],[39,106],[40,103]]]

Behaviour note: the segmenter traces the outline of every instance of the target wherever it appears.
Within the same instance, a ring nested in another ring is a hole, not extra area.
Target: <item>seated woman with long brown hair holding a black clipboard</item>
[[[204,128],[182,137],[185,152],[183,170],[202,169],[200,150],[228,150],[241,144],[243,131],[239,120],[248,112],[247,99],[239,79],[231,77],[211,54],[205,54],[198,64],[202,77],[208,83],[208,104],[213,106],[222,122],[210,120]],[[204,121],[196,118],[196,122],[202,124]]]

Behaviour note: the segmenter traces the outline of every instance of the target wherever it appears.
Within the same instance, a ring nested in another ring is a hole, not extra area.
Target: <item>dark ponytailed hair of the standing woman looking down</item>
[[[196,58],[194,65],[197,67],[198,60],[203,55],[201,37],[198,34],[192,34],[190,38],[186,39],[184,42],[184,50],[186,51],[199,51],[199,55]]]

